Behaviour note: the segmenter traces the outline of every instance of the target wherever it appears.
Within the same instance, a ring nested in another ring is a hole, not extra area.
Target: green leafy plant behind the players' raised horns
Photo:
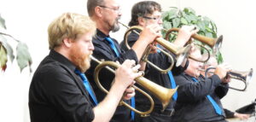
[[[207,16],[195,15],[195,10],[191,8],[184,8],[183,10],[171,7],[170,10],[163,13],[163,26],[165,29],[172,27],[181,27],[183,25],[195,25],[199,28],[198,34],[206,36],[208,38],[217,38],[217,26]],[[166,32],[163,32],[163,36],[166,36]],[[172,34],[169,40],[175,40],[176,34]],[[196,41],[201,44],[201,42]],[[207,46],[207,45],[206,45]],[[208,49],[210,49],[208,47]],[[202,49],[202,51],[205,51]],[[210,49],[212,53],[212,49]],[[223,62],[223,57],[220,52],[216,55],[218,63]]]

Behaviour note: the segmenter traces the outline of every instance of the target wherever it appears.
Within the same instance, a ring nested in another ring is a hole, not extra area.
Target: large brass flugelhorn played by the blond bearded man
[[[100,83],[98,75],[103,67],[106,67],[110,72],[114,73],[114,70],[111,67],[118,68],[120,66],[119,63],[113,62],[113,61],[99,61],[92,55],[90,56],[90,59],[92,61],[96,61],[97,63],[99,63],[99,65],[97,65],[95,72],[94,72],[94,80],[95,80],[97,86],[101,90],[103,90],[105,93],[108,94],[108,90],[103,88],[102,84]],[[155,84],[154,82],[148,80],[147,78],[143,78],[143,76],[135,78],[135,81],[137,84],[140,84],[145,90],[148,90],[153,96],[158,98],[160,100],[160,102],[162,102],[163,109],[166,109],[166,106],[172,100],[172,96],[174,95],[174,93],[177,90],[177,87],[175,89],[167,89],[165,87],[162,87],[159,84]],[[132,111],[134,111],[136,113],[139,113],[142,117],[148,116],[149,113],[151,113],[154,108],[154,101],[153,101],[152,97],[149,96],[143,90],[137,88],[135,85],[132,85],[132,87],[135,90],[138,90],[139,92],[141,92],[144,96],[148,97],[149,102],[151,102],[151,106],[148,109],[148,111],[145,111],[145,112],[138,111],[137,109],[131,107],[130,105],[128,105],[127,103],[125,103],[123,101],[121,101],[120,104],[124,105],[125,107],[130,108]]]

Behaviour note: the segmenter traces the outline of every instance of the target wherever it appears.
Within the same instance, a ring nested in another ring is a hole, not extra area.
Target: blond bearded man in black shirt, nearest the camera
[[[114,83],[102,102],[97,102],[84,72],[94,49],[95,23],[84,15],[66,13],[51,22],[49,55],[38,66],[29,89],[32,122],[109,121],[125,90],[141,73],[135,61],[126,60],[116,70]],[[132,69],[131,69],[132,67]],[[84,84],[83,84],[84,83]]]

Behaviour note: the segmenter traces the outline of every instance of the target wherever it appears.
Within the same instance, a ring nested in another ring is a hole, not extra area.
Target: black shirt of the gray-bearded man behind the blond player
[[[119,61],[120,63],[123,63],[126,59],[135,60],[137,62],[137,55],[134,52],[134,50],[130,49],[126,52],[121,50],[119,48],[118,42],[112,38],[113,43],[115,47],[119,50],[119,57],[116,57],[113,49],[111,48],[110,44],[108,44],[108,41],[105,40],[105,38],[108,37],[108,35],[105,35],[100,30],[96,30],[96,35],[94,38],[92,38],[92,43],[95,47],[93,51],[93,55],[98,60],[104,60],[104,61]],[[94,70],[98,64],[95,61],[90,62],[90,69],[86,72],[86,76],[90,81],[94,81]],[[99,80],[102,84],[102,86],[109,90],[110,84],[112,84],[114,75],[113,73],[109,72],[106,69],[102,69],[102,72],[99,74]],[[92,88],[94,89],[96,93],[97,100],[99,102],[102,101],[102,99],[106,96],[106,94],[100,90],[96,83],[91,83]],[[125,101],[130,104],[131,101]],[[113,115],[113,118],[111,121],[118,121],[118,122],[128,122],[131,121],[131,110],[128,109],[125,106],[119,106],[117,107],[116,112]]]

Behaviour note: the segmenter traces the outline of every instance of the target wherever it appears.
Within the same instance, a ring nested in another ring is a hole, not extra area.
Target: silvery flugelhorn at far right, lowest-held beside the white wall
[[[216,69],[215,67],[209,67],[207,68],[207,70],[205,70],[205,77],[207,78],[207,74],[208,73],[212,73],[210,72],[211,69]],[[230,87],[230,89],[232,90],[239,90],[239,91],[245,91],[247,90],[247,85],[249,83],[249,81],[252,79],[253,77],[253,68],[249,69],[247,72],[241,72],[241,71],[230,71],[227,73],[227,75],[230,77],[230,78],[236,78],[238,79],[239,81],[243,82],[244,83],[244,88],[243,89],[238,89],[238,88],[235,88],[235,87]]]

